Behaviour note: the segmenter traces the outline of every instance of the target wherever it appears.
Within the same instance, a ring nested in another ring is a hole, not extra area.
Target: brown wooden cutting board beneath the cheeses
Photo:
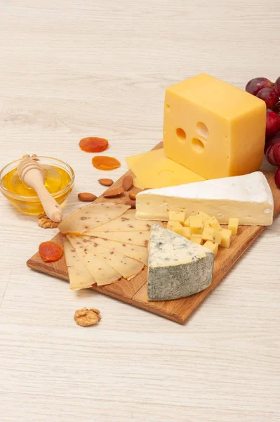
[[[156,146],[161,148],[162,143]],[[155,149],[155,148],[154,148]],[[110,186],[109,189],[117,188],[121,186],[122,180],[128,174],[133,173],[128,170],[123,177],[121,177],[114,185]],[[274,174],[272,172],[264,172],[267,181],[272,188],[274,196],[274,217],[280,211],[280,189],[278,189],[274,182]],[[148,186],[147,186],[148,187]],[[139,189],[132,188],[131,191],[138,192]],[[98,202],[115,202],[125,203],[128,200],[128,193],[124,193],[119,198],[108,200],[102,195],[95,200]],[[187,318],[194,312],[194,309],[198,307],[201,302],[214,290],[218,284],[222,281],[222,278],[227,274],[229,269],[239,258],[244,254],[246,249],[255,241],[255,239],[261,234],[263,226],[240,226],[239,233],[235,236],[232,241],[232,245],[229,249],[220,248],[218,256],[215,258],[213,280],[211,285],[196,295],[189,296],[188,298],[177,299],[177,300],[165,300],[161,302],[151,302],[147,300],[147,268],[142,271],[141,274],[136,276],[131,281],[121,279],[117,283],[110,284],[109,286],[96,286],[93,290],[98,290],[100,293],[112,296],[113,298],[122,300],[123,302],[129,303],[136,307],[146,309],[149,312],[164,316],[165,318],[171,319],[172,321],[184,324]],[[57,234],[52,240],[63,244],[63,235]],[[60,279],[68,280],[68,271],[65,262],[65,256],[62,255],[60,260],[56,262],[44,262],[39,253],[37,252],[32,258],[27,261],[27,266],[36,271],[40,271],[51,276],[59,277]]]

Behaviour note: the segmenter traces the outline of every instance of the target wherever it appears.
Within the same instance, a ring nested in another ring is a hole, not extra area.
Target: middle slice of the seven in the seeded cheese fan
[[[135,260],[138,260],[145,265],[148,264],[148,250],[145,246],[129,245],[128,243],[109,241],[108,239],[96,238],[92,236],[81,237],[87,238],[88,241],[102,245],[104,248],[109,250],[116,250],[116,252],[120,252],[127,257],[134,258]]]

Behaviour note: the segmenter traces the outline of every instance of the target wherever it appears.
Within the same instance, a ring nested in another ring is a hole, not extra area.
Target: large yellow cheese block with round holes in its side
[[[262,164],[265,115],[265,102],[243,89],[191,77],[166,89],[164,151],[206,179],[254,172]]]

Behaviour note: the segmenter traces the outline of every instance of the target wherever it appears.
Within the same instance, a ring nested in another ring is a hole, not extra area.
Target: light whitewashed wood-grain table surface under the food
[[[279,0],[2,0],[0,12],[0,165],[69,162],[65,213],[102,192],[82,137],[109,139],[116,179],[126,155],[161,141],[168,85],[280,74]],[[56,231],[0,207],[1,422],[280,421],[279,219],[179,326],[30,271]],[[85,306],[98,326],[74,323]]]

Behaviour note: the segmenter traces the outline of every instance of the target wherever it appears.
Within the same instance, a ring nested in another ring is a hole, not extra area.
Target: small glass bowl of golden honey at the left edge
[[[0,191],[21,212],[38,215],[44,208],[34,191],[18,176],[20,160],[10,162],[0,171]],[[51,157],[36,157],[44,170],[44,184],[61,205],[74,185],[75,174],[66,162]]]

